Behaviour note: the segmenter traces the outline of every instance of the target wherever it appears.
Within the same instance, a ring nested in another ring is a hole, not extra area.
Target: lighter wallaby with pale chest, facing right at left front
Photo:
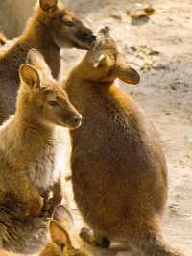
[[[33,254],[46,242],[43,197],[60,175],[55,127],[78,128],[81,115],[35,49],[19,75],[15,114],[0,127],[0,247]]]

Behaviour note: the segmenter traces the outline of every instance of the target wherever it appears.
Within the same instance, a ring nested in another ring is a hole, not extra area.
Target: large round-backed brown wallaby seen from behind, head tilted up
[[[130,96],[114,85],[139,82],[123,61],[108,28],[69,75],[66,91],[84,116],[71,131],[72,183],[94,241],[121,241],[145,256],[181,256],[161,236],[167,167],[158,134]],[[89,240],[86,232],[82,237]]]

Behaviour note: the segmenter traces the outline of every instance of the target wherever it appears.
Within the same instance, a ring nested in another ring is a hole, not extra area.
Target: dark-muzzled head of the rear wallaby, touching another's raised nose
[[[41,11],[46,15],[49,27],[60,48],[91,49],[96,37],[84,26],[75,13],[60,0],[39,0]]]

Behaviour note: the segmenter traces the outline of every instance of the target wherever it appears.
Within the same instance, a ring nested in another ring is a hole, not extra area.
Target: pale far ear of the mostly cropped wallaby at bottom
[[[56,206],[53,213],[53,219],[60,223],[60,225],[66,230],[70,230],[74,226],[74,221],[71,213],[63,205]]]

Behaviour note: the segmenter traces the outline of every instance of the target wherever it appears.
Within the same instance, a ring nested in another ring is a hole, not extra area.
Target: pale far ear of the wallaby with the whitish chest
[[[26,58],[27,64],[32,64],[36,66],[37,69],[45,71],[46,73],[51,74],[51,70],[48,64],[45,62],[44,57],[36,49],[29,50]]]

